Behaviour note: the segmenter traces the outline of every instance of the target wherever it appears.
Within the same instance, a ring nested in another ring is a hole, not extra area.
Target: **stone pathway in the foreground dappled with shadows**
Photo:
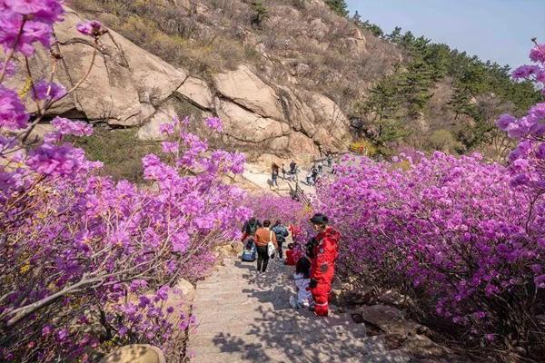
[[[348,315],[318,318],[292,309],[292,269],[281,260],[270,260],[259,277],[255,262],[224,264],[197,285],[198,328],[189,342],[193,363],[410,361],[399,350],[387,350],[382,337],[366,337],[364,325]]]

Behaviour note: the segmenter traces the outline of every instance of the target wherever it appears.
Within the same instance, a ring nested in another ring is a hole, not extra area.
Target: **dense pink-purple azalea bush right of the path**
[[[516,78],[542,87],[545,45]],[[520,140],[509,165],[481,155],[347,158],[318,188],[318,205],[342,233],[340,266],[395,288],[422,319],[465,342],[542,357],[545,326],[545,103],[498,121]]]

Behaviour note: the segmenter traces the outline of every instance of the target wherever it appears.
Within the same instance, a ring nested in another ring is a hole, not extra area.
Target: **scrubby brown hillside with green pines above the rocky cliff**
[[[510,67],[396,28],[384,34],[344,1],[73,0],[135,44],[210,79],[253,64],[265,81],[323,93],[352,119],[356,138],[390,154],[401,145],[498,158],[493,128],[539,94]],[[365,16],[365,15],[363,15]],[[515,64],[518,65],[518,64]]]

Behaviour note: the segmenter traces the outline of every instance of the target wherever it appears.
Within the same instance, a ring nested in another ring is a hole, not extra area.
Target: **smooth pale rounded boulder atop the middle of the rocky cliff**
[[[233,103],[265,118],[283,120],[278,95],[249,66],[241,65],[235,71],[216,74],[213,80],[218,92]]]

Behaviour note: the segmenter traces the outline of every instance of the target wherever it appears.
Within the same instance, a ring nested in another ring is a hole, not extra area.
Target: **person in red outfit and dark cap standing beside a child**
[[[323,317],[327,317],[329,312],[329,293],[341,240],[341,234],[328,226],[328,222],[327,216],[322,213],[314,214],[311,223],[318,234],[311,240],[307,250],[312,262],[309,288],[314,299],[314,313]]]

